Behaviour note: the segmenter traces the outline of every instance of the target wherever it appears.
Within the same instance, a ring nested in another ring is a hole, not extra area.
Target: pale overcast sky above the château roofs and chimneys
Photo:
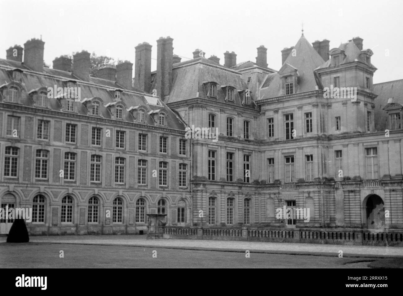
[[[156,40],[170,36],[182,61],[199,48],[220,64],[227,50],[237,54],[237,63],[256,62],[256,48],[264,45],[268,66],[278,70],[280,50],[297,43],[303,23],[310,43],[328,39],[330,49],[363,38],[378,68],[374,83],[403,79],[401,0],[0,0],[0,11],[1,58],[10,46],[42,35],[51,66],[55,57],[81,50],[134,63],[138,43],[150,43],[156,59]]]

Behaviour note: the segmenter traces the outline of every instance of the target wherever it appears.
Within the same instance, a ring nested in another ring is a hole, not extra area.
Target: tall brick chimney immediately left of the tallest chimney
[[[151,48],[147,42],[139,43],[135,47],[134,87],[146,93],[149,93],[151,88]]]

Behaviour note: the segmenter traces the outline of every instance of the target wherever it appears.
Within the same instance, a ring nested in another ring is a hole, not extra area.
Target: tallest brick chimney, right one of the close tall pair
[[[157,75],[156,75],[156,89],[157,96],[164,99],[169,95],[172,84],[172,63],[173,63],[173,39],[160,37],[157,40]]]

